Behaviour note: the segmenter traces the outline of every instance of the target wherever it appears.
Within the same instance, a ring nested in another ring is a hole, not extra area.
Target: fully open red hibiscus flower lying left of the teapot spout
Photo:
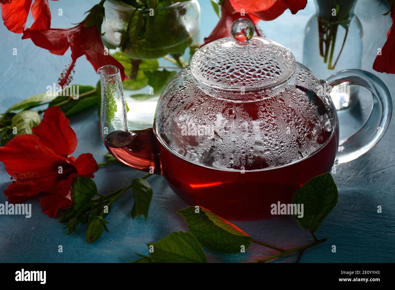
[[[98,165],[90,153],[77,159],[70,156],[77,138],[59,107],[47,109],[44,120],[32,131],[34,134],[15,136],[0,148],[0,161],[13,180],[4,194],[9,202],[18,204],[46,193],[40,198],[41,208],[49,217],[55,217],[58,210],[73,204],[70,196],[73,178],[93,178]]]

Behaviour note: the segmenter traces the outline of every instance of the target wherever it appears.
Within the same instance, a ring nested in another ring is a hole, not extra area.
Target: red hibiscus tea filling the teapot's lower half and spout
[[[188,204],[233,220],[273,217],[271,204],[291,203],[293,193],[303,183],[331,171],[339,142],[336,128],[320,136],[324,146],[297,162],[273,169],[260,170],[262,164],[257,162],[248,170],[221,170],[194,164],[170,152],[152,128],[134,133],[109,134],[105,139],[109,152],[126,165],[137,164],[141,170],[163,174],[171,189]]]

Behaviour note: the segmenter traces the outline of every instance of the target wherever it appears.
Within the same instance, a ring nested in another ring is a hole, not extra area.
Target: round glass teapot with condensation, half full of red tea
[[[129,131],[119,69],[98,69],[101,133],[122,163],[162,174],[191,205],[232,220],[271,217],[271,204],[292,203],[310,178],[371,149],[392,113],[386,85],[367,71],[348,69],[317,79],[288,49],[252,37],[237,19],[233,37],[194,54],[162,93],[152,128]],[[371,115],[339,140],[330,92],[359,85],[372,92]]]

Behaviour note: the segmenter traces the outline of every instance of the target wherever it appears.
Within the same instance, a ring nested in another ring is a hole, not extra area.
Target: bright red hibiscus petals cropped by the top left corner
[[[33,5],[32,0],[0,0],[0,3],[4,25],[9,31],[23,32],[30,6],[32,6],[31,11],[35,20],[30,29],[49,29],[51,27],[48,0],[34,0]]]

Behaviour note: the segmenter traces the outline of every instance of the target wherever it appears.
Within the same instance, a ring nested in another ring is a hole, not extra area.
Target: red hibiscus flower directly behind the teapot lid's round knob
[[[286,9],[293,14],[306,7],[307,0],[224,0],[221,4],[221,19],[209,37],[205,37],[204,44],[222,37],[231,36],[230,28],[233,21],[246,17],[256,25],[260,20],[273,20]],[[259,36],[259,31],[255,27]],[[202,46],[203,46],[202,45]]]

